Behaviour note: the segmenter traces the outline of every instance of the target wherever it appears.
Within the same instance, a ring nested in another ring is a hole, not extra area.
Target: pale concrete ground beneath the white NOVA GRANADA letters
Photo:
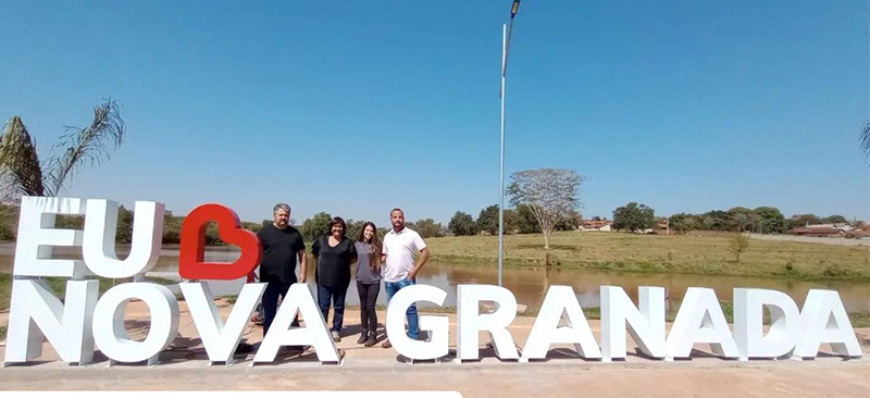
[[[844,360],[820,356],[813,361],[767,360],[737,362],[712,357],[706,345],[696,346],[691,361],[664,362],[630,355],[625,361],[602,363],[577,358],[567,346],[551,347],[543,362],[502,362],[482,346],[482,360],[471,363],[426,362],[407,364],[393,349],[356,344],[359,313],[345,314],[346,336],[341,364],[320,364],[312,351],[279,355],[273,364],[250,366],[253,353],[240,356],[231,366],[209,366],[196,327],[181,302],[181,336],[161,355],[156,366],[109,366],[99,352],[95,363],[70,366],[60,362],[46,344],[44,356],[33,364],[0,369],[0,389],[378,389],[457,390],[465,397],[577,396],[648,397],[870,397],[870,359]],[[224,316],[232,306],[222,302]],[[8,314],[0,314],[5,322]],[[451,349],[456,319],[450,316]],[[147,333],[147,307],[133,302],[127,327],[133,337]],[[378,313],[383,322],[384,313]],[[511,333],[522,346],[533,318],[517,318]],[[598,337],[598,322],[589,322]],[[856,329],[865,352],[870,353],[870,328]],[[483,336],[483,334],[482,334]],[[262,328],[252,324],[245,339],[257,344]],[[482,344],[486,340],[482,338]],[[634,345],[629,341],[630,351]],[[822,346],[828,350],[826,346]],[[0,343],[0,357],[5,343]]]

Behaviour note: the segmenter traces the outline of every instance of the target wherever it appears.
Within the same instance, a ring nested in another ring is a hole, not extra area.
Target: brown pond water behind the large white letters
[[[65,251],[63,251],[65,250]],[[127,249],[119,248],[119,257],[124,258]],[[0,273],[12,272],[14,244],[0,244]],[[209,249],[207,261],[232,262],[239,253],[232,249]],[[55,250],[55,257],[80,258],[80,249]],[[159,275],[172,275],[178,268],[178,250],[164,248],[154,268]],[[313,281],[313,270],[309,272]],[[832,289],[840,291],[846,311],[870,311],[870,283],[854,282],[806,282],[775,278],[711,276],[685,274],[646,274],[596,270],[552,270],[544,268],[508,268],[504,274],[505,287],[517,296],[517,302],[537,308],[544,301],[547,287],[550,285],[568,285],[574,288],[583,307],[599,306],[599,287],[601,285],[621,286],[632,299],[637,300],[639,286],[660,286],[667,289],[671,302],[682,301],[686,288],[709,287],[716,290],[720,300],[731,301],[735,287],[755,287],[783,291],[803,306],[809,289]],[[212,291],[215,295],[235,295],[241,289],[241,281],[215,283]],[[459,284],[498,283],[498,269],[492,266],[461,265],[430,262],[418,276],[418,283],[433,285],[447,291],[445,306],[456,306],[456,287]],[[351,283],[347,294],[349,304],[359,303],[356,285]],[[382,293],[378,302],[386,302],[386,294]]]

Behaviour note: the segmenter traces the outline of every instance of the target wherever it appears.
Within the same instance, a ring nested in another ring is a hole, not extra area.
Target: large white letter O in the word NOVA
[[[142,300],[151,313],[148,336],[142,341],[129,338],[124,312],[132,299]],[[140,362],[156,357],[178,333],[178,301],[162,285],[136,282],[107,291],[94,309],[94,343],[117,362]]]

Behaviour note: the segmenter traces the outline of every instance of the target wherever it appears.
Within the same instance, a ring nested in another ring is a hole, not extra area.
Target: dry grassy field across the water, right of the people
[[[428,238],[433,260],[492,264],[498,237]],[[563,269],[870,281],[870,248],[751,239],[738,263],[729,235],[636,235],[561,232],[544,250],[542,235],[505,236],[506,265],[551,264]]]

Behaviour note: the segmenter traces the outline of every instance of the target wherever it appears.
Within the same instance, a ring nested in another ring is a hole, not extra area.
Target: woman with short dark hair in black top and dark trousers
[[[323,320],[330,319],[330,301],[335,309],[333,340],[340,341],[341,322],[345,318],[345,295],[350,285],[350,264],[357,261],[353,241],[345,237],[347,226],[341,217],[330,221],[330,233],[314,241],[311,252],[316,264],[318,304]]]

